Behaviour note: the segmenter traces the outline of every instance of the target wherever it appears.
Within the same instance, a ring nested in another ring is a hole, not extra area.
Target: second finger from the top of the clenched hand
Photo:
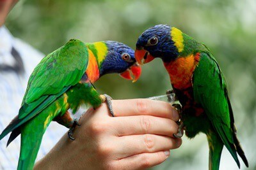
[[[116,128],[113,129],[116,136],[131,134],[159,134],[171,136],[177,133],[179,125],[169,118],[152,116],[116,117],[113,119]]]

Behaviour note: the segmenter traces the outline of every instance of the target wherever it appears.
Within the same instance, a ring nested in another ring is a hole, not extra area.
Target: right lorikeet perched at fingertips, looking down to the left
[[[144,64],[155,58],[163,60],[173,91],[182,104],[180,128],[173,136],[180,138],[199,132],[209,143],[209,169],[219,169],[223,145],[240,167],[237,153],[248,161],[236,136],[234,115],[227,85],[209,48],[169,25],[156,25],[141,34],[136,43],[136,60]]]

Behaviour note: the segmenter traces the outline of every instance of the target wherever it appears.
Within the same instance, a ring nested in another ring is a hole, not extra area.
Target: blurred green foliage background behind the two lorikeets
[[[207,45],[226,76],[234,109],[237,135],[250,168],[256,169],[256,1],[20,1],[6,26],[14,36],[49,53],[77,38],[85,42],[115,40],[134,48],[148,27],[168,24],[178,27]],[[161,60],[143,66],[136,83],[107,75],[95,85],[114,99],[149,97],[171,88]],[[207,169],[205,136],[183,138],[183,145],[154,169]],[[237,169],[226,149],[221,169]],[[246,169],[242,163],[241,169]]]

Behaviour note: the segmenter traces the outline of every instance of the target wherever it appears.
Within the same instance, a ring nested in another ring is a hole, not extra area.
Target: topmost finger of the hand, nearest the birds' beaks
[[[113,111],[115,117],[127,117],[134,115],[151,115],[156,117],[171,118],[179,120],[177,110],[170,103],[164,101],[153,101],[150,99],[127,99],[113,100]],[[106,108],[106,104],[102,104]]]

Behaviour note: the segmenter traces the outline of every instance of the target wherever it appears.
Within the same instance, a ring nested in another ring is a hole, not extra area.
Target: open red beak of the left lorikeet
[[[131,75],[132,74],[132,75]],[[132,80],[132,83],[140,78],[141,66],[137,62],[133,64],[129,69],[120,74],[125,79]]]

